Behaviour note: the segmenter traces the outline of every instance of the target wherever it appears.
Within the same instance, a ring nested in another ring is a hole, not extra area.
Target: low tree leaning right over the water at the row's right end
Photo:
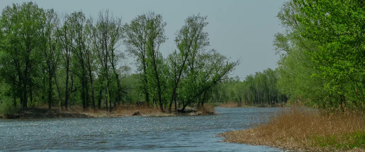
[[[188,58],[187,77],[182,80],[180,98],[183,107],[197,102],[204,92],[209,91],[218,82],[228,79],[228,75],[240,63],[239,60],[230,62],[229,59],[216,50],[204,51]]]

